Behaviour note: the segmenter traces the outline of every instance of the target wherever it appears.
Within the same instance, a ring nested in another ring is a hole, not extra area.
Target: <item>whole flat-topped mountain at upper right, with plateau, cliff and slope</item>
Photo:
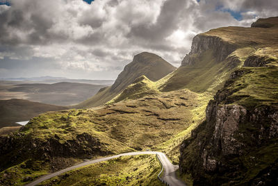
[[[196,35],[181,67],[163,78],[159,90],[168,92],[188,88],[194,92],[215,94],[238,67],[277,66],[278,18],[259,19],[258,22],[271,22],[272,26],[229,26]]]

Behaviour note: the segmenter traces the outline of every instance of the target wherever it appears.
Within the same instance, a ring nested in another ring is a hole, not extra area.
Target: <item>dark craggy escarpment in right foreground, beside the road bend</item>
[[[208,103],[181,146],[181,171],[195,185],[277,184],[277,81],[277,67],[239,69]]]

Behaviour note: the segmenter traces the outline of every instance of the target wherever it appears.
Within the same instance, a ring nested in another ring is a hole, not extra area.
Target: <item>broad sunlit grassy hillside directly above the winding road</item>
[[[18,179],[26,183],[83,158],[147,149],[164,151],[177,164],[179,144],[184,135],[190,135],[191,124],[204,118],[199,108],[207,102],[202,94],[179,90],[96,109],[42,114],[2,139],[1,174],[9,176],[8,183]],[[20,158],[15,158],[19,153]],[[22,164],[27,162],[32,171],[24,181]]]

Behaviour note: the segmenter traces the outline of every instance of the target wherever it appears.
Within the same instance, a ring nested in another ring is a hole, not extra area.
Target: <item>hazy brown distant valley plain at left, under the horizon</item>
[[[27,121],[43,112],[68,109],[113,83],[71,79],[62,81],[72,82],[50,83],[55,81],[61,80],[0,81],[0,130],[4,126],[19,126],[15,122]]]

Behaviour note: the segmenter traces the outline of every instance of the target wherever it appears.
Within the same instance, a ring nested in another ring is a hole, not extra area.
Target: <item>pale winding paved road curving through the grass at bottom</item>
[[[177,186],[185,186],[186,185],[185,183],[181,182],[181,180],[177,179],[175,171],[179,167],[177,165],[173,165],[170,162],[170,160],[168,160],[165,153],[156,152],[156,151],[142,151],[142,152],[121,153],[121,154],[109,156],[109,157],[106,157],[106,158],[99,158],[97,160],[90,160],[90,161],[87,161],[87,162],[83,162],[81,164],[76,164],[72,167],[67,167],[66,169],[62,169],[62,170],[57,171],[55,173],[47,174],[46,176],[42,176],[42,177],[38,178],[38,180],[35,180],[31,183],[28,183],[26,186],[37,185],[39,183],[42,183],[44,180],[48,180],[50,178],[53,178],[54,176],[58,176],[58,175],[63,174],[67,171],[71,171],[73,169],[83,167],[83,166],[88,165],[88,164],[103,162],[103,161],[111,160],[113,158],[119,158],[119,157],[124,156],[124,155],[144,155],[144,154],[156,154],[158,156],[158,158],[161,161],[161,164],[163,165],[163,168],[164,168],[164,175],[163,175],[162,179],[168,185],[171,185],[171,186],[176,186],[176,185]]]

